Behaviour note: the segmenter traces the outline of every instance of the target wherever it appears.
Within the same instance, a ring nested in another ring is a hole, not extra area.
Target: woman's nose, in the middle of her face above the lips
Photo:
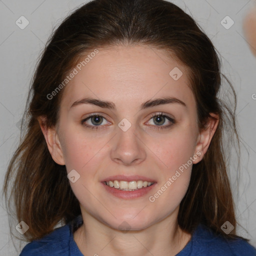
[[[145,144],[141,133],[136,132],[135,126],[123,131],[117,127],[117,134],[111,141],[110,157],[113,161],[125,165],[138,164],[145,160]]]

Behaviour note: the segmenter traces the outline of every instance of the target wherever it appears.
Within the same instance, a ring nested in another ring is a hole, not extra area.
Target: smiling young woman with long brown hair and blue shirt
[[[220,84],[212,43],[176,5],[75,10],[38,63],[5,178],[31,241],[20,255],[256,255],[235,233]]]

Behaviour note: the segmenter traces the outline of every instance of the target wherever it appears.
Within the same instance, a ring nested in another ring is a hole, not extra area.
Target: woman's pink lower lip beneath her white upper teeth
[[[116,189],[114,187],[110,187],[106,185],[104,182],[101,182],[101,183],[103,184],[107,192],[122,199],[133,199],[133,198],[141,197],[147,194],[156,185],[156,182],[154,182],[152,185],[147,187],[142,187],[133,191],[125,191],[125,190]]]

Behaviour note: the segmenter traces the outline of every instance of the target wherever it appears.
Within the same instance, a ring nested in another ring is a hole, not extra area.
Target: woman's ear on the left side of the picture
[[[65,165],[62,149],[60,146],[58,134],[56,132],[55,127],[54,128],[47,127],[46,117],[44,116],[39,116],[37,120],[40,124],[43,136],[47,143],[47,147],[51,154],[52,159],[60,165]]]

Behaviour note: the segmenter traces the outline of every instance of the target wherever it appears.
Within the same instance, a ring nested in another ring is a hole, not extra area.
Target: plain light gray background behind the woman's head
[[[18,123],[22,116],[28,86],[39,53],[53,27],[82,0],[0,0],[0,186],[7,163],[19,140]],[[237,92],[237,120],[242,141],[241,173],[236,183],[231,166],[231,183],[236,214],[242,227],[238,234],[256,246],[256,58],[251,54],[242,31],[242,20],[255,0],[174,0],[191,14],[222,56],[222,72]],[[25,16],[29,24],[20,29],[15,21]],[[234,21],[229,29],[220,21],[226,16]],[[29,185],[29,184],[28,184]],[[0,201],[0,255],[18,255],[11,239],[4,201]],[[16,223],[17,224],[17,223]],[[12,229],[17,234],[16,229]],[[21,247],[25,243],[21,243]]]

